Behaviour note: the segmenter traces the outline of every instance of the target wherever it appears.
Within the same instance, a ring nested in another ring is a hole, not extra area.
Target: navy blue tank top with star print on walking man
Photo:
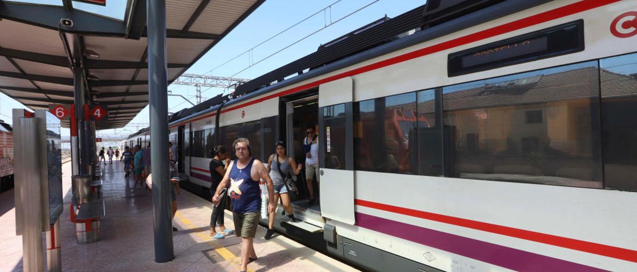
[[[233,212],[245,214],[259,212],[261,210],[261,187],[259,180],[252,180],[250,171],[254,158],[244,168],[237,167],[238,160],[234,160],[230,170],[230,200],[233,203]]]

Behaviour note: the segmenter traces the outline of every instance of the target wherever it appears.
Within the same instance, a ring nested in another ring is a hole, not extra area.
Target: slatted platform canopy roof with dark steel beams
[[[31,109],[73,104],[80,67],[91,103],[108,107],[97,129],[125,126],[148,104],[146,0],[126,0],[123,20],[57,1],[0,0],[0,92]],[[169,83],[263,2],[166,0]]]

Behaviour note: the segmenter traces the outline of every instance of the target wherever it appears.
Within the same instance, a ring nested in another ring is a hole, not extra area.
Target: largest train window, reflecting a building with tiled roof
[[[442,101],[456,177],[602,187],[597,61],[448,86]]]

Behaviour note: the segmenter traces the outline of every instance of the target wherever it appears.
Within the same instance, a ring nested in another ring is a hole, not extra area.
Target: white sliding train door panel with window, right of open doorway
[[[320,207],[323,217],[354,224],[352,78],[318,87]]]

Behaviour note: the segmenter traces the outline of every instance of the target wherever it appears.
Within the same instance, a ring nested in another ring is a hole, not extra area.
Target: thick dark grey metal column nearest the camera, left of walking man
[[[166,0],[147,0],[148,105],[150,167],[153,186],[155,262],[175,259],[173,252],[171,184],[168,180],[168,67],[166,65]]]

